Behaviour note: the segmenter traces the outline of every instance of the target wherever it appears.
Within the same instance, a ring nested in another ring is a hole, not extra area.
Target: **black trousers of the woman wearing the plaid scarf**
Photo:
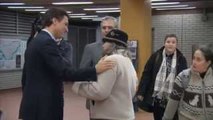
[[[161,101],[160,99],[154,100],[154,109],[153,109],[154,120],[162,120],[166,104],[167,104],[166,101]],[[173,120],[178,120],[177,112],[175,113]]]

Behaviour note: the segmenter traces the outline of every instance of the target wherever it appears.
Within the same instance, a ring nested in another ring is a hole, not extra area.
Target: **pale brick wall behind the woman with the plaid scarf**
[[[179,38],[178,48],[191,64],[192,45],[213,43],[213,13],[208,20],[202,21],[202,14],[154,15],[153,51],[164,44],[166,34],[174,33]]]

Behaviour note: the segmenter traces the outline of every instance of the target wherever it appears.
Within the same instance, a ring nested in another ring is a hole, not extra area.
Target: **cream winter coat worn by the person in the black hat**
[[[98,75],[93,83],[75,83],[73,91],[95,101],[91,118],[109,120],[134,120],[132,98],[136,92],[137,75],[129,58],[111,55],[116,66]]]

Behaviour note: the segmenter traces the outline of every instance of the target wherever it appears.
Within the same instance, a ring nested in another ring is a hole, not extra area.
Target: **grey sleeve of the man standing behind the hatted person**
[[[89,45],[86,45],[80,62],[80,68],[90,67],[92,65],[91,51]]]

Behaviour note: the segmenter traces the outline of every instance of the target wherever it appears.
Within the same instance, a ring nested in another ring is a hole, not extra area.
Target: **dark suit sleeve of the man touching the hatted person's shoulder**
[[[71,64],[60,55],[57,45],[49,40],[40,48],[40,55],[44,59],[47,69],[65,81],[96,81],[95,67],[73,69]],[[35,58],[36,59],[36,58]]]

